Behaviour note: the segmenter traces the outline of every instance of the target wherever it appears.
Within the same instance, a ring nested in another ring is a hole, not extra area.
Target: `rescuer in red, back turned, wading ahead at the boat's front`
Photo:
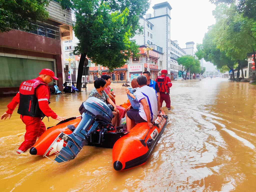
[[[161,71],[161,76],[158,76],[156,79],[156,82],[159,87],[160,92],[160,103],[161,107],[163,105],[163,102],[165,101],[166,107],[168,110],[171,108],[171,100],[170,100],[170,87],[172,87],[172,82],[169,77],[167,77],[167,70]]]

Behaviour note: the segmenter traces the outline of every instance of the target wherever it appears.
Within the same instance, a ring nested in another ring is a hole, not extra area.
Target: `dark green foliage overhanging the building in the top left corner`
[[[48,17],[46,6],[50,0],[0,0],[0,32],[10,31],[13,26],[25,31],[35,28],[32,24]]]

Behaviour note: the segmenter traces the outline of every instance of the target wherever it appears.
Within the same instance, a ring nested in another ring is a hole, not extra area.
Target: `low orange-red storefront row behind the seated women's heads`
[[[113,83],[125,83],[127,74],[127,65],[116,68],[112,72],[109,71],[108,67],[90,67],[89,83],[99,78],[101,75],[108,74],[111,77]]]

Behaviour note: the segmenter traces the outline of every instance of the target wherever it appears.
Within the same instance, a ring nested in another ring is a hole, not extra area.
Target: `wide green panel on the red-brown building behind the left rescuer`
[[[19,87],[23,81],[39,76],[42,69],[54,71],[54,61],[0,56],[0,88]]]

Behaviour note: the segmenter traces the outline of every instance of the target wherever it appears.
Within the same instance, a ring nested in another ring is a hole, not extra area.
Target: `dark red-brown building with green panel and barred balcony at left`
[[[72,39],[71,10],[50,1],[47,11],[49,18],[33,23],[36,29],[32,31],[25,32],[13,25],[13,30],[0,33],[0,96],[17,93],[22,81],[36,78],[44,68],[55,72],[59,78],[56,84],[63,83],[61,41]]]

